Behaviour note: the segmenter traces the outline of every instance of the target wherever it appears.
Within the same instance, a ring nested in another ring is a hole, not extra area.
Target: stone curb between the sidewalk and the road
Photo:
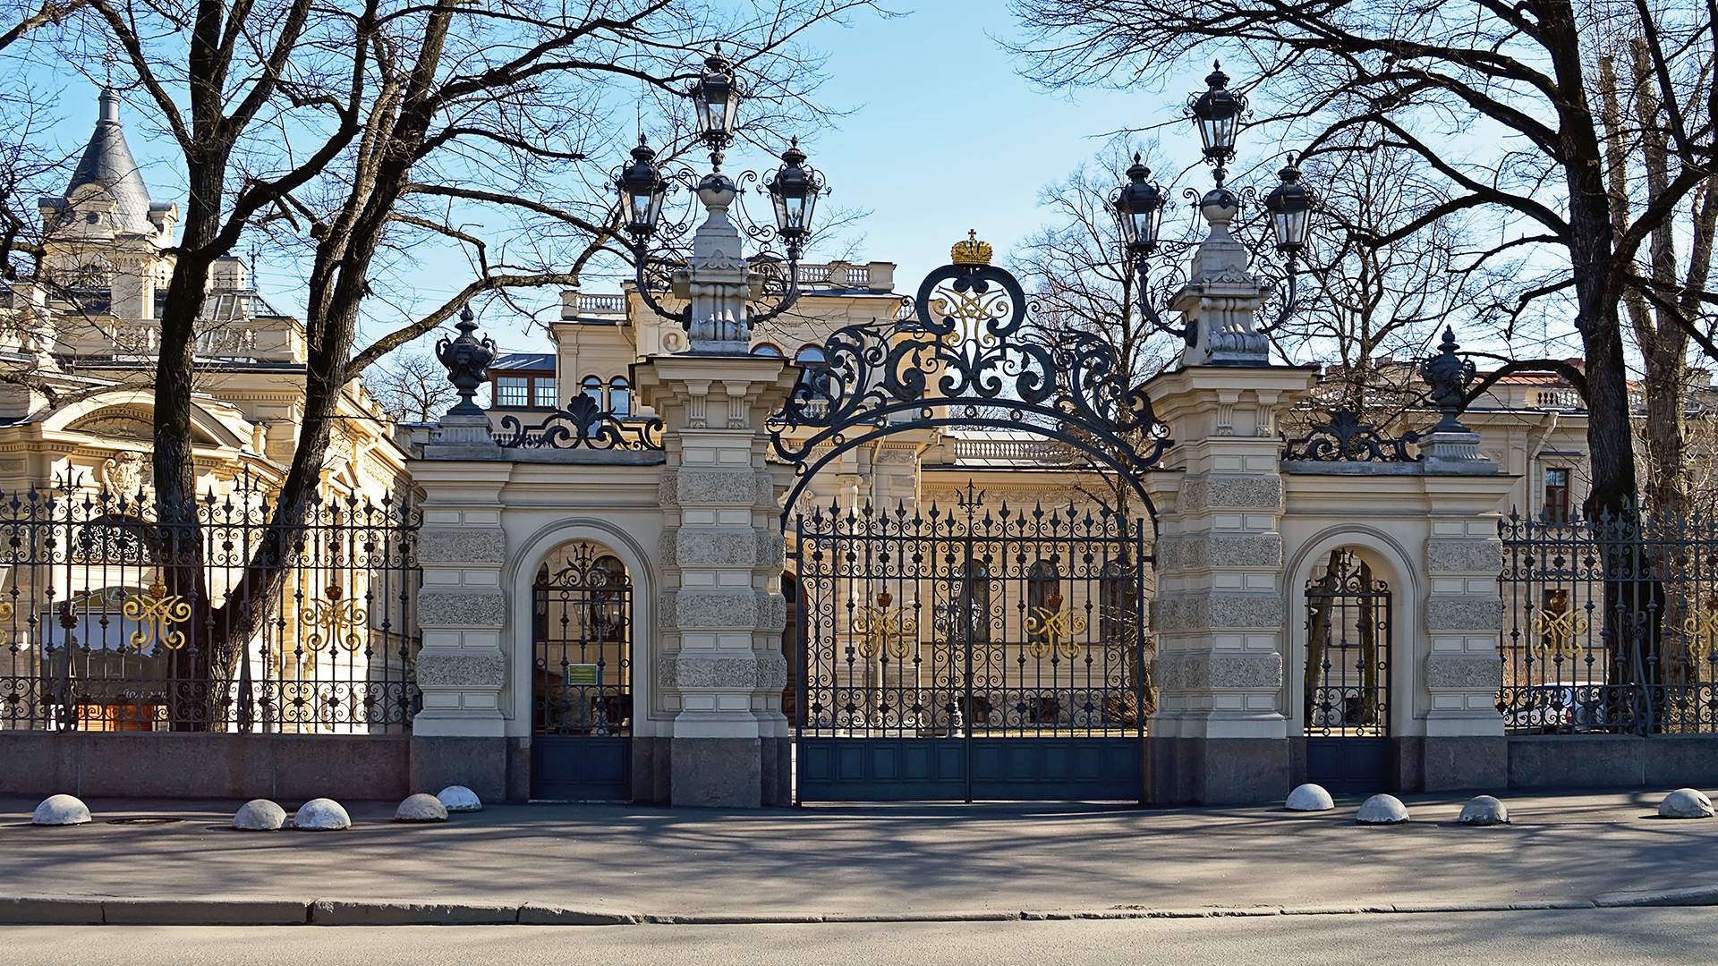
[[[0,897],[0,925],[167,926],[624,926],[811,923],[1005,923],[1051,920],[1220,920],[1249,916],[1361,916],[1519,913],[1639,906],[1718,906],[1718,885],[1665,892],[1608,892],[1594,899],[1512,902],[1385,902],[1366,906],[1117,908],[947,913],[617,913],[553,902],[414,902],[354,899],[143,899],[98,896]]]

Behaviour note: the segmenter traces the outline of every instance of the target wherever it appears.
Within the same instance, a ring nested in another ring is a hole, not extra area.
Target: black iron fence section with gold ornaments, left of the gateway
[[[253,478],[191,505],[74,481],[0,493],[0,729],[405,731],[416,511],[277,509]]]

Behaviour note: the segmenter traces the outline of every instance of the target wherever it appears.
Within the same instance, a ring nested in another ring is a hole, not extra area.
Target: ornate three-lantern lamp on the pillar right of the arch
[[[1264,196],[1264,210],[1271,215],[1276,254],[1285,261],[1288,285],[1276,320],[1258,327],[1252,316],[1263,289],[1247,268],[1246,248],[1228,230],[1242,205],[1256,198],[1251,187],[1237,193],[1227,184],[1247,98],[1228,89],[1230,77],[1223,72],[1221,64],[1211,67],[1211,74],[1204,79],[1206,89],[1187,103],[1187,113],[1199,131],[1204,162],[1211,165],[1215,184],[1204,194],[1197,194],[1191,187],[1185,191],[1187,198],[1197,198],[1199,211],[1209,223],[1209,234],[1194,254],[1191,278],[1173,299],[1177,308],[1187,306],[1182,308],[1187,318],[1185,325],[1165,321],[1151,299],[1151,258],[1158,251],[1168,191],[1149,180],[1151,168],[1141,163],[1139,155],[1134,155],[1134,165],[1127,168],[1127,182],[1115,191],[1110,208],[1120,229],[1122,253],[1134,270],[1139,315],[1151,330],[1180,335],[1189,347],[1189,352],[1184,354],[1189,363],[1264,361],[1264,333],[1282,327],[1294,311],[1297,266],[1306,251],[1316,198],[1301,182],[1301,168],[1295,167],[1294,155],[1290,155],[1288,163],[1278,172],[1278,184]],[[1189,301],[1191,296],[1203,296],[1203,299]],[[1208,323],[1220,323],[1220,332],[1201,333],[1201,318],[1206,318]],[[1201,347],[1199,352],[1194,352],[1196,345]],[[1218,359],[1218,356],[1228,358]]]

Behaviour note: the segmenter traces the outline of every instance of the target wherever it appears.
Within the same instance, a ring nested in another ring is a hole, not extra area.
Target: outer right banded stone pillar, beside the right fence
[[[1436,433],[1431,440],[1450,435]],[[1498,504],[1514,485],[1495,462],[1477,455],[1477,438],[1462,459],[1424,447],[1429,511],[1426,535],[1426,791],[1502,789],[1508,786],[1508,743],[1496,710],[1503,665],[1498,634],[1503,598],[1498,572]]]

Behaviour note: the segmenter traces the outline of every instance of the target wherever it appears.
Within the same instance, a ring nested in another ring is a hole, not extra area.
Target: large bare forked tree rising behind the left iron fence
[[[612,256],[606,172],[634,131],[615,103],[649,105],[673,155],[689,143],[673,105],[720,41],[751,91],[742,136],[775,138],[819,113],[821,62],[804,33],[868,7],[88,0],[65,26],[69,55],[108,55],[115,83],[177,148],[189,187],[158,303],[153,466],[163,576],[218,636],[192,676],[230,676],[265,619],[282,579],[268,560],[302,529],[345,385],[479,294],[576,285]],[[192,498],[194,323],[215,261],[258,232],[309,266],[304,416],[268,540],[211,614]],[[359,347],[359,320],[388,306],[392,268],[436,248],[462,251],[472,278]]]

